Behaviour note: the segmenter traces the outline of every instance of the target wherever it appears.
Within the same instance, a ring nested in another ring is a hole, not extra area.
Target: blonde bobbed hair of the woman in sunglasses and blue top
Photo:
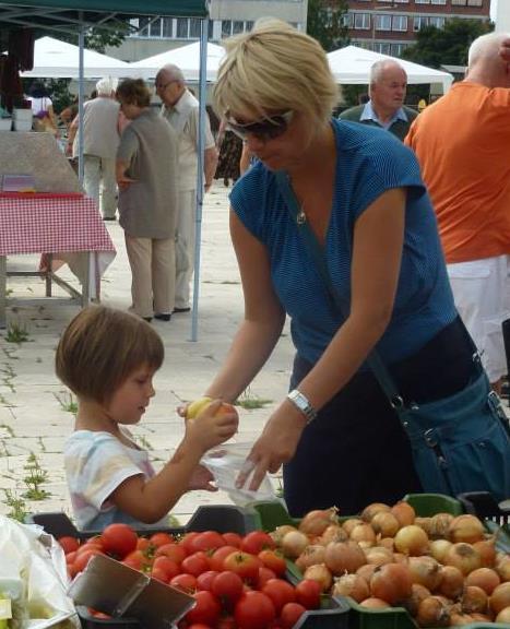
[[[320,44],[286,22],[264,19],[224,41],[214,100],[221,116],[295,110],[327,122],[339,88]]]

